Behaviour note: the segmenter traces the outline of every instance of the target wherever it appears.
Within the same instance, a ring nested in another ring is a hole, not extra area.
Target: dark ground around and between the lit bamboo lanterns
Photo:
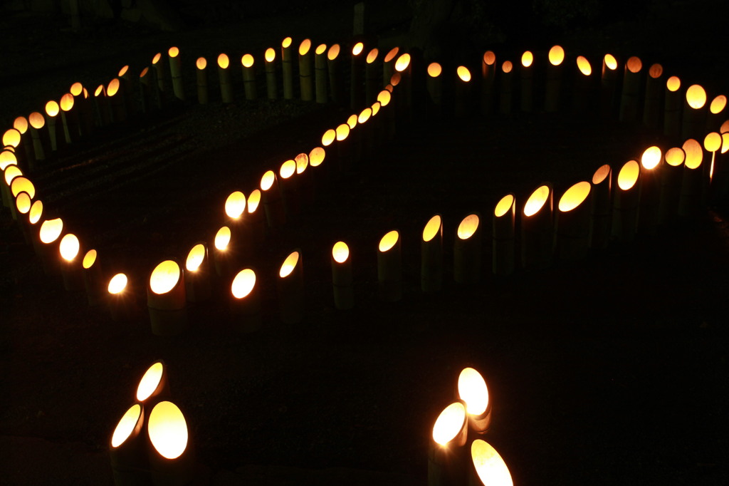
[[[2,74],[4,126],[71,82],[109,80],[125,63],[139,71],[171,45],[186,59],[186,47],[189,59],[262,52],[285,35],[313,36],[309,18],[324,19],[322,42],[348,39],[348,20],[336,23],[337,15],[348,19],[346,8],[294,13],[176,34],[126,24],[71,34],[48,20],[4,20],[15,34],[4,41],[15,53]],[[678,23],[674,14],[661,14],[661,25]],[[20,47],[34,21],[47,35],[28,34],[34,47]],[[632,33],[639,53],[673,61],[676,72],[698,63],[687,61],[698,50],[671,50],[673,36],[658,50],[631,22],[570,31],[564,44],[589,42],[589,52],[601,53],[620,39],[615,52],[631,55],[625,37]],[[243,34],[242,26],[252,30]],[[710,34],[703,31],[703,45],[713,42]],[[701,52],[711,59],[715,50]],[[725,63],[702,67],[696,81],[726,93]],[[443,214],[451,262],[454,228],[467,212],[488,215],[511,191],[524,201],[545,180],[561,194],[602,163],[617,167],[650,144],[672,146],[636,127],[539,113],[416,123],[362,171],[319,191],[313,207],[269,240],[256,262],[268,279],[262,331],[236,335],[216,302],[190,309],[183,336],[152,336],[142,282],[155,263],[211,239],[230,191],[249,193],[264,168],[311,150],[347,115],[297,101],[190,102],[109,128],[33,177],[47,207],[98,247],[104,269],[130,274],[143,312],[133,323],[113,323],[106,309],[66,293],[2,215],[4,482],[111,482],[109,436],[158,358],[168,365],[203,474],[219,484],[424,484],[429,430],[464,366],[486,377],[494,406],[487,440],[517,484],[729,482],[725,212],[504,281],[490,276],[486,258],[479,285],[461,288],[447,269],[443,293],[419,291],[418,237],[432,214]],[[405,296],[383,304],[375,247],[392,228],[403,235]],[[351,312],[332,306],[328,251],[338,239],[353,255]],[[295,247],[305,262],[307,312],[299,325],[283,325],[273,276]]]

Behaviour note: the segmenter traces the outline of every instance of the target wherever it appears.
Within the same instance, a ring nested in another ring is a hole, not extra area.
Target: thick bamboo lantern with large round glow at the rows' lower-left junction
[[[147,285],[147,308],[155,336],[177,336],[187,327],[184,272],[174,260],[152,270]]]

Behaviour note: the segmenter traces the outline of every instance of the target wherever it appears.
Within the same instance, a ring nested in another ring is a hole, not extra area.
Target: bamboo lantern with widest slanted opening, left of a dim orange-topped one
[[[559,198],[555,217],[555,252],[561,260],[582,260],[588,254],[591,188],[590,182],[577,182]]]

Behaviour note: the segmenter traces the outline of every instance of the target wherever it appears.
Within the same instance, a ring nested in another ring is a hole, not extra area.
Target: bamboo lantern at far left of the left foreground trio
[[[109,444],[114,485],[147,485],[151,481],[143,428],[144,406],[133,404],[117,423]]]

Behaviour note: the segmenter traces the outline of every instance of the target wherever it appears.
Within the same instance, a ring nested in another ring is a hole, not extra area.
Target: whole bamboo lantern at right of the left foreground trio
[[[155,485],[187,485],[192,482],[192,454],[187,422],[171,401],[152,408],[147,422],[149,469]]]

